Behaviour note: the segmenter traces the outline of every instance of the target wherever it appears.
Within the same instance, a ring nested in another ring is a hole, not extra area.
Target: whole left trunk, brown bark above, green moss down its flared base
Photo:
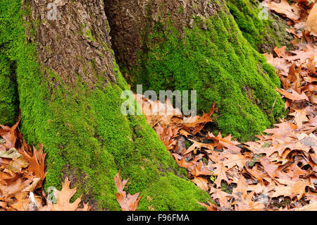
[[[197,200],[208,194],[185,178],[144,116],[120,112],[128,85],[111,50],[104,3],[56,1],[56,20],[48,19],[47,4],[0,4],[0,46],[6,66],[15,65],[21,131],[48,153],[46,188],[68,176],[96,209],[120,209],[113,181],[120,169],[127,192],[141,192],[140,210],[203,209]]]

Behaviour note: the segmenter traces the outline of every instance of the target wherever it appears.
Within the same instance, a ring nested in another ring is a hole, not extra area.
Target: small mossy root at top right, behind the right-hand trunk
[[[291,35],[284,20],[261,7],[258,0],[227,0],[230,13],[254,49],[267,52],[287,45]]]

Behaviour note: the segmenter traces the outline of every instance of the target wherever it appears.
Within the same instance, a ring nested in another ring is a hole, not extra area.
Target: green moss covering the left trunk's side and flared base
[[[1,2],[0,46],[7,43],[9,59],[16,62],[24,138],[42,143],[48,153],[45,189],[61,188],[63,176],[68,176],[77,186],[75,197],[83,195],[97,209],[118,210],[113,177],[120,169],[122,177],[129,178],[127,192],[141,192],[139,209],[203,209],[197,200],[206,202],[208,193],[185,178],[186,171],[144,116],[121,114],[125,99],[120,94],[128,85],[116,62],[117,84],[104,86],[100,78],[91,90],[78,75],[76,85],[66,85],[60,75],[37,63],[35,44],[25,41],[23,14],[20,0]]]

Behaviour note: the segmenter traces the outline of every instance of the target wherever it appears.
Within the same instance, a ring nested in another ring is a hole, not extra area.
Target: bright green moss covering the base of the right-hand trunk
[[[144,35],[144,49],[131,71],[133,87],[197,90],[199,113],[209,111],[215,100],[221,115],[218,128],[225,134],[247,140],[282,116],[283,102],[275,91],[278,76],[228,14],[205,22],[195,18],[183,35],[173,23],[156,23]]]

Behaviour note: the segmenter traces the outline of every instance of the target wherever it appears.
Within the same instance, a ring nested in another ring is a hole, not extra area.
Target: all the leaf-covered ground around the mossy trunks
[[[264,54],[280,76],[277,91],[285,98],[288,116],[256,141],[240,143],[231,135],[211,132],[206,124],[216,121],[211,118],[215,104],[208,114],[186,118],[146,111],[149,105],[173,109],[170,102],[139,102],[149,125],[178,165],[187,169],[187,177],[209,192],[209,205],[199,202],[207,210],[317,210],[317,4],[309,2],[264,2],[288,21],[294,50],[276,47]],[[67,179],[61,191],[46,196],[45,154],[42,146],[35,150],[23,141],[19,122],[0,129],[0,211],[89,210],[85,204],[78,208],[80,198],[70,203],[76,188],[71,189]],[[114,179],[121,208],[136,210],[142,196],[125,193],[120,172]]]

